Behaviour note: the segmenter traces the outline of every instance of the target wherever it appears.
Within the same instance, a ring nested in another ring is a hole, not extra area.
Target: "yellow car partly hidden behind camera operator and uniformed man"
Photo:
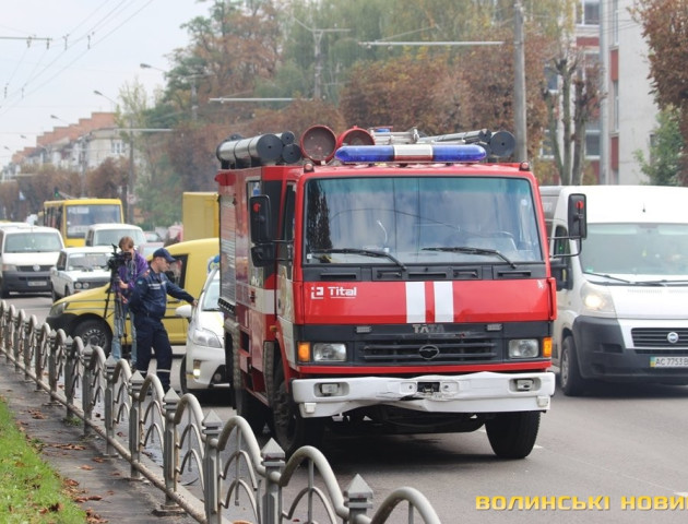
[[[174,275],[168,276],[178,286],[198,298],[205,283],[210,262],[220,252],[218,239],[189,240],[167,246],[167,250],[177,259],[177,262],[170,266]],[[115,310],[115,296],[112,293],[108,293],[109,287],[108,284],[58,300],[50,308],[46,322],[56,331],[62,329],[69,336],[80,336],[84,345],[91,343],[100,346],[105,354],[109,355]],[[163,319],[163,324],[173,345],[182,345],[187,341],[188,321],[175,314],[175,310],[180,305],[180,300],[173,297],[167,298],[167,312]],[[122,338],[122,346],[131,345],[129,322],[127,323],[127,333],[130,336]]]

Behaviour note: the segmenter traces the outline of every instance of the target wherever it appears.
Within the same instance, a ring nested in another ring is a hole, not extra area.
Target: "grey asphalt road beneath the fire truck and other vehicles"
[[[10,301],[41,319],[50,299]],[[182,350],[175,348],[177,356]],[[178,365],[176,358],[177,388]],[[484,431],[328,434],[322,451],[342,488],[360,474],[379,502],[393,489],[412,486],[444,523],[683,523],[688,519],[686,406],[683,386],[603,385],[577,398],[557,390],[536,448],[522,461],[496,458]],[[213,400],[204,408],[223,419],[233,414]]]

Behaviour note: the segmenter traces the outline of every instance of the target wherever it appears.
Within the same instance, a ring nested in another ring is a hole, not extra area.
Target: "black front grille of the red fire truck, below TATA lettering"
[[[496,341],[489,338],[376,342],[366,343],[361,348],[363,360],[370,364],[452,364],[496,357]]]

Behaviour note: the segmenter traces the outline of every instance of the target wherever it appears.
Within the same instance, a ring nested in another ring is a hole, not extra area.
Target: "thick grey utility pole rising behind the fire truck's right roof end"
[[[513,2],[513,128],[515,159],[527,160],[527,126],[525,116],[525,38],[523,36],[523,4]]]

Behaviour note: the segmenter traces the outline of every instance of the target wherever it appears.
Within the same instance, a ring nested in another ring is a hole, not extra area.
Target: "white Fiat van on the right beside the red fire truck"
[[[569,193],[588,237],[567,238]],[[567,395],[590,380],[688,384],[688,188],[542,187],[550,253],[565,264],[553,364]]]

